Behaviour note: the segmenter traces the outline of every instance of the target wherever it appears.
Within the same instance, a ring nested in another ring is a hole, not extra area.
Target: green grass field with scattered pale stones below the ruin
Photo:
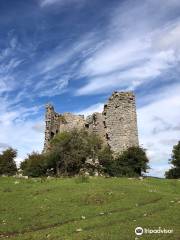
[[[137,226],[173,229],[143,234]],[[0,178],[0,239],[180,239],[180,181]]]

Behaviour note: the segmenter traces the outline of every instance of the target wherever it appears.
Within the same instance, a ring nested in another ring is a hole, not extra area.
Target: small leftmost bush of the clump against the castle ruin
[[[20,165],[23,175],[29,177],[45,176],[47,171],[46,158],[43,154],[33,152],[21,162]]]

